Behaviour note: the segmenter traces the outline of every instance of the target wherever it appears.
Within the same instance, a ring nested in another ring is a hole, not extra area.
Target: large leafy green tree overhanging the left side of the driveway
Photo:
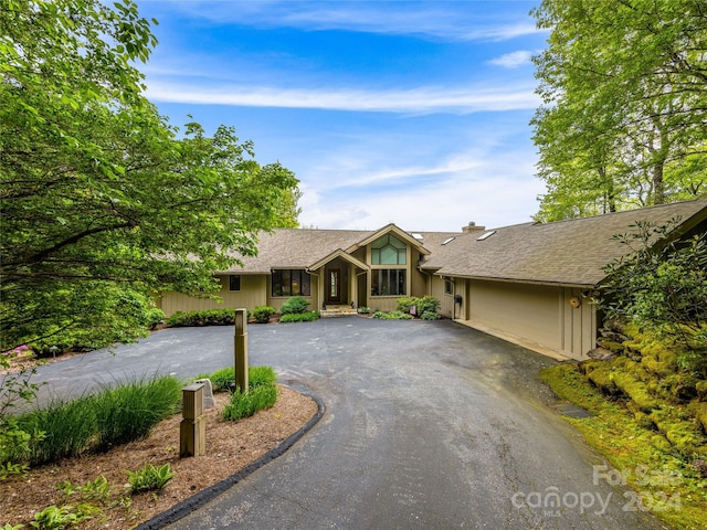
[[[1,0],[2,350],[128,340],[150,295],[208,294],[261,230],[296,225],[289,170],[145,98],[155,44],[131,0]]]

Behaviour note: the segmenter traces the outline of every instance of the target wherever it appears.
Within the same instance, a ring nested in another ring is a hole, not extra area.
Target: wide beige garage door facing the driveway
[[[472,325],[562,350],[559,287],[473,280],[467,298]]]

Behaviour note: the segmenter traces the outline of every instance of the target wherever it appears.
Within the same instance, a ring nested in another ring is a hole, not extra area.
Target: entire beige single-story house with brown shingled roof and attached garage
[[[671,237],[707,232],[707,199],[552,223],[486,230],[407,232],[277,229],[256,257],[219,274],[222,303],[167,293],[167,316],[219,307],[282,307],[303,296],[310,308],[391,310],[401,296],[432,295],[441,314],[548,354],[585,359],[601,316],[591,297],[603,267],[626,252],[613,236],[636,222],[679,224]]]

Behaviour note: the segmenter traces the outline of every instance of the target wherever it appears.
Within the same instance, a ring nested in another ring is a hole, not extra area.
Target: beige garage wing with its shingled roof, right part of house
[[[581,218],[468,230],[440,247],[421,269],[442,294],[442,312],[492,335],[544,353],[587,359],[597,347],[601,318],[592,296],[604,266],[625,255],[615,236],[636,223],[682,222],[669,237],[704,233],[707,199]],[[657,242],[656,242],[657,244]],[[447,285],[453,296],[445,296]]]

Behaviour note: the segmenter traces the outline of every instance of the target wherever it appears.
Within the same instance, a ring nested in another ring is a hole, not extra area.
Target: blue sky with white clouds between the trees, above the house
[[[527,1],[137,0],[159,21],[147,96],[234,126],[300,180],[303,226],[523,223],[542,182]]]

